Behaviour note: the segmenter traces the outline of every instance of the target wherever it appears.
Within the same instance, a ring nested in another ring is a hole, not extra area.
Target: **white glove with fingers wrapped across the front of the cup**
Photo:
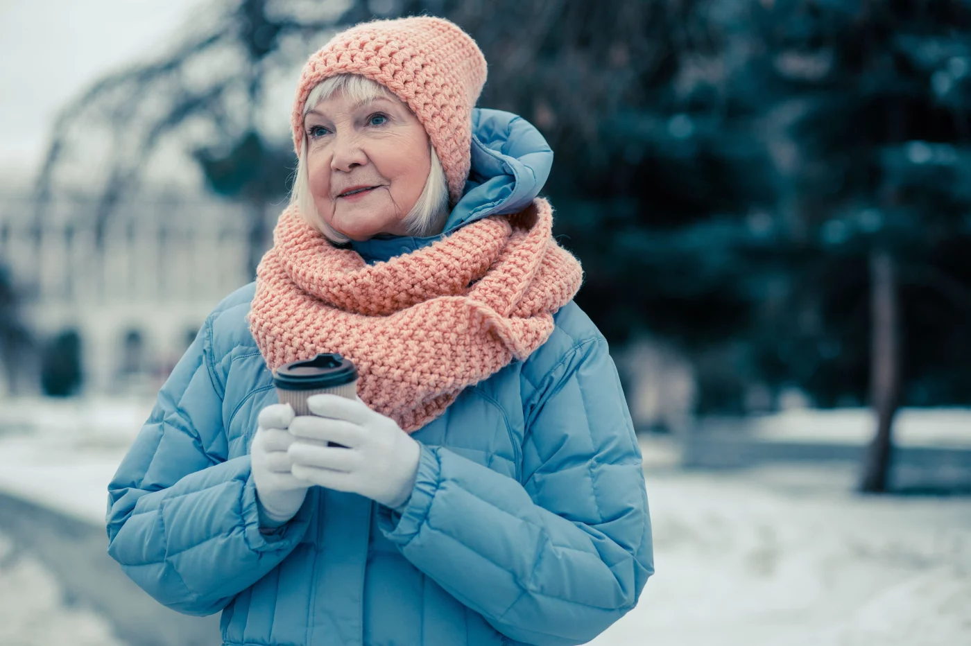
[[[421,453],[418,441],[359,397],[312,395],[307,406],[315,415],[299,415],[289,425],[295,437],[287,449],[293,475],[392,509],[411,498]],[[326,446],[328,440],[344,446]]]

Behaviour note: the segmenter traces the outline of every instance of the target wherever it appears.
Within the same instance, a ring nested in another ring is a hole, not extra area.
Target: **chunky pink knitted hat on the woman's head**
[[[424,126],[456,202],[469,175],[472,108],[485,84],[485,56],[472,37],[449,20],[416,16],[362,22],[314,53],[297,85],[291,125],[300,154],[303,111],[324,79],[359,74],[387,87]]]

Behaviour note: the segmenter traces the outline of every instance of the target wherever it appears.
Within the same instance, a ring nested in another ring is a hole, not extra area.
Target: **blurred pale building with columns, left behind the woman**
[[[0,198],[0,262],[35,340],[14,370],[19,394],[42,392],[41,373],[60,360],[77,361],[85,395],[157,392],[209,311],[251,280],[235,205],[152,195],[118,205],[103,227],[97,207],[75,197],[39,211],[27,194]],[[10,372],[0,395],[14,390]]]

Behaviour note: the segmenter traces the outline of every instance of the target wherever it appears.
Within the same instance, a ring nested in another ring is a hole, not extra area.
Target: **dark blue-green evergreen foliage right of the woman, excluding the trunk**
[[[868,258],[888,249],[902,403],[971,402],[971,6],[654,2],[621,28],[626,5],[571,5],[610,36],[549,34],[509,105],[556,151],[556,230],[608,337],[677,340],[714,372],[702,408],[738,409],[754,382],[862,404]],[[485,27],[465,26],[482,44]],[[483,47],[494,69],[503,50]],[[610,65],[633,50],[643,58]],[[577,51],[586,67],[558,81]],[[618,91],[557,109],[557,83]],[[490,88],[485,105],[507,89]]]

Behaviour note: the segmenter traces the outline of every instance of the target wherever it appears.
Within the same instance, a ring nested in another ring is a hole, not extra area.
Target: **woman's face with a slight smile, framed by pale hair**
[[[418,202],[431,170],[428,135],[397,99],[354,105],[345,92],[304,117],[307,174],[318,213],[361,242],[408,235],[402,219]]]

